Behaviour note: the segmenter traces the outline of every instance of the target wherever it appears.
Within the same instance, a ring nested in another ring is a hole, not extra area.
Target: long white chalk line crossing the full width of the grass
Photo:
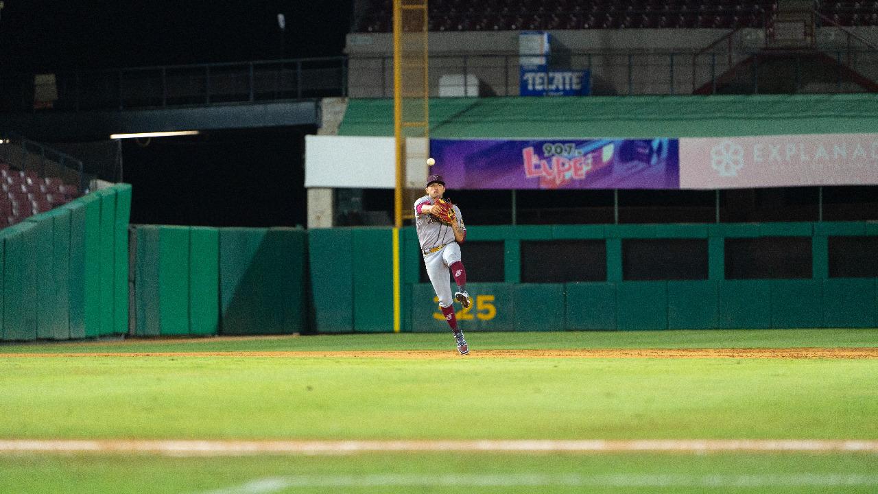
[[[878,440],[0,440],[0,454],[148,453],[172,456],[393,452],[864,452]]]

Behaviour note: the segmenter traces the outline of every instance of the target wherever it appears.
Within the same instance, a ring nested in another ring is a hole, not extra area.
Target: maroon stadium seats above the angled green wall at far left
[[[36,171],[15,170],[0,161],[0,229],[25,221],[33,214],[67,204],[79,197],[79,187],[61,178],[40,177]]]

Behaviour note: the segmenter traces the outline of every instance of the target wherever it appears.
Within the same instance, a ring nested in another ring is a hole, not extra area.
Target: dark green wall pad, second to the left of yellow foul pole
[[[353,229],[308,230],[314,330],[354,331]]]

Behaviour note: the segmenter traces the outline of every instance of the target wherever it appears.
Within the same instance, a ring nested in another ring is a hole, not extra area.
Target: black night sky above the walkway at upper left
[[[7,69],[119,68],[340,55],[353,0],[4,0]]]

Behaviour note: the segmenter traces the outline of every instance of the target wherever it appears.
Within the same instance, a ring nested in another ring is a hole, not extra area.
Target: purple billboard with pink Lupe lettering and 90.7
[[[452,189],[679,189],[677,139],[431,139]]]

